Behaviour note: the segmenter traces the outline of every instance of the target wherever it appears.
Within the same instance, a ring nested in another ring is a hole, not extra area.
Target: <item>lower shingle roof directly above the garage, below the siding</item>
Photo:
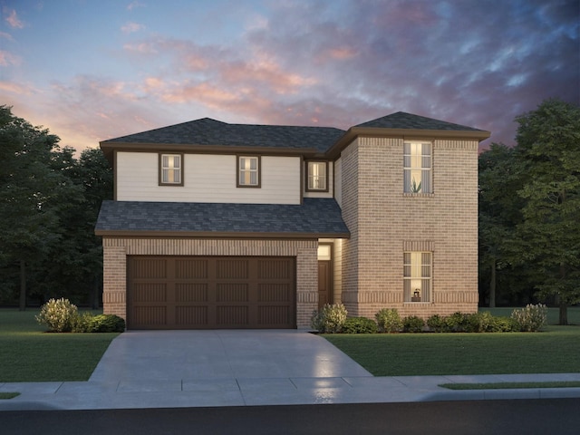
[[[97,236],[350,237],[333,198],[301,205],[103,201]]]

